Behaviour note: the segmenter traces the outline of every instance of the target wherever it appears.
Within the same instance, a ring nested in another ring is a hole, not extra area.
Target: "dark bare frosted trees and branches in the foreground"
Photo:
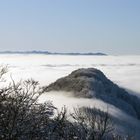
[[[7,72],[1,67],[0,79]],[[132,140],[119,136],[108,112],[95,108],[65,107],[57,111],[51,102],[39,103],[43,89],[38,82],[14,80],[0,89],[0,140]]]

